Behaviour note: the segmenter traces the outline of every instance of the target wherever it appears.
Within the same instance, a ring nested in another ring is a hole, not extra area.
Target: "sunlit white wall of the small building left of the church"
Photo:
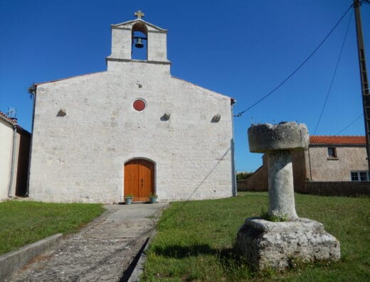
[[[13,151],[13,126],[0,119],[0,200],[8,198]]]

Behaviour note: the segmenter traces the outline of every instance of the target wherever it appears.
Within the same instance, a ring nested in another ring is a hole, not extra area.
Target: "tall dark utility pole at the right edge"
[[[369,0],[363,1],[366,1],[368,4],[370,4]],[[366,72],[365,47],[364,47],[364,36],[362,35],[360,6],[361,1],[354,0],[354,16],[356,18],[357,50],[359,52],[362,104],[364,107],[366,153],[368,170],[370,174],[370,93],[369,93],[369,81],[367,80]]]

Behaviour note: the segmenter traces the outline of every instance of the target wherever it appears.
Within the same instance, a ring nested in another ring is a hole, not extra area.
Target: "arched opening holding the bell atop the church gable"
[[[132,60],[148,60],[148,29],[144,23],[132,26]]]

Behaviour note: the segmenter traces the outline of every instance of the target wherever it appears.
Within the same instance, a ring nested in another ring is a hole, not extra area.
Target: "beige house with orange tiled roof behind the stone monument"
[[[268,155],[263,155],[263,166],[245,181],[246,190],[268,190]],[[292,152],[295,190],[305,190],[312,183],[369,181],[365,136],[310,136],[305,151]],[[337,184],[333,184],[337,183]],[[239,183],[238,183],[239,185]],[[317,185],[317,184],[315,184]],[[329,184],[322,184],[329,187]],[[350,185],[347,185],[348,187]]]

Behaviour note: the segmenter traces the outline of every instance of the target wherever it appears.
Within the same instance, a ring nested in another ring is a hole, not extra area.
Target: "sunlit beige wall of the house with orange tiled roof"
[[[310,147],[312,181],[351,181],[351,170],[367,170],[366,148],[335,146],[337,158],[328,158],[327,146]]]

